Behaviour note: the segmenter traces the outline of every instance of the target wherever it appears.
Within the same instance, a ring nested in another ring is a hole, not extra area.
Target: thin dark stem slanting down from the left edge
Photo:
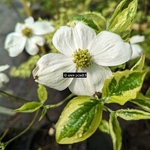
[[[4,91],[1,91],[1,90],[0,90],[0,95],[9,97],[9,98],[14,99],[14,100],[16,100],[16,101],[19,101],[19,102],[21,102],[21,103],[27,103],[27,102],[29,102],[29,101],[26,100],[26,99],[23,99],[23,98],[20,98],[20,97],[17,97],[17,96],[8,94],[8,93],[6,93],[6,92],[4,92]]]

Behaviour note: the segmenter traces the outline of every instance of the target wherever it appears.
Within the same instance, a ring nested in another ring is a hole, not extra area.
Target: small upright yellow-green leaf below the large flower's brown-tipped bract
[[[47,100],[47,90],[42,84],[38,84],[37,93],[39,100],[44,103]]]

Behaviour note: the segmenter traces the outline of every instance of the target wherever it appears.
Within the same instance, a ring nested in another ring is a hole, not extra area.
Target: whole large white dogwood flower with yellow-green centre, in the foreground
[[[132,53],[119,35],[108,31],[96,35],[82,22],[58,29],[53,44],[62,54],[42,56],[33,70],[35,81],[57,90],[69,87],[76,95],[101,92],[105,79],[112,75],[108,66],[125,63]],[[63,78],[63,72],[86,72],[87,78]]]

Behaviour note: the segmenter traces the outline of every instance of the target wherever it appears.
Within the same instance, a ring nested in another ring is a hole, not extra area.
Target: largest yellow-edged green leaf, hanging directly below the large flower
[[[63,110],[56,124],[59,144],[77,143],[87,139],[98,128],[103,105],[88,96],[73,98]]]

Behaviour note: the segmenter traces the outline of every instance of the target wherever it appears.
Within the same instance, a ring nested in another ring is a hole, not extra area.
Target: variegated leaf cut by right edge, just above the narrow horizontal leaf
[[[150,98],[144,96],[142,93],[139,93],[136,99],[131,100],[130,102],[140,106],[146,111],[150,112]]]

